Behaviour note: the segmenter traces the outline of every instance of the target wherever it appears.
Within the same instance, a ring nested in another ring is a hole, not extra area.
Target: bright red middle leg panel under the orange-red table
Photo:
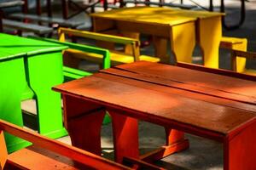
[[[116,111],[108,112],[112,117],[115,161],[122,163],[124,156],[139,158],[137,119]]]

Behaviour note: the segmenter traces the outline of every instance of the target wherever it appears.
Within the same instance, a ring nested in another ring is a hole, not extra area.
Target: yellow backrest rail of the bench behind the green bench
[[[61,42],[65,42],[66,35],[71,35],[73,37],[84,37],[84,38],[88,38],[88,39],[94,39],[97,41],[113,42],[113,43],[118,43],[118,44],[123,44],[123,45],[131,45],[132,56],[134,57],[134,60],[135,61],[139,60],[140,42],[134,38],[119,37],[119,36],[113,36],[113,35],[108,35],[108,34],[91,32],[91,31],[79,31],[79,30],[68,29],[68,28],[59,28],[58,34],[59,34],[59,40]]]

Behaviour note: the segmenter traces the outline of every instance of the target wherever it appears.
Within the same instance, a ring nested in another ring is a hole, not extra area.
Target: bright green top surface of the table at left
[[[66,46],[53,42],[44,42],[4,33],[0,33],[0,40],[0,60],[24,55],[29,56],[33,54],[61,51],[67,48]]]

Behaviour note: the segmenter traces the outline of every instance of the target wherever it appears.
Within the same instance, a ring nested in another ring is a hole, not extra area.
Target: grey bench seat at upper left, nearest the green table
[[[3,26],[9,28],[15,28],[21,31],[32,31],[38,35],[49,34],[53,31],[53,28],[49,28],[48,26],[38,26],[34,24],[23,23],[15,20],[6,20],[3,19]]]

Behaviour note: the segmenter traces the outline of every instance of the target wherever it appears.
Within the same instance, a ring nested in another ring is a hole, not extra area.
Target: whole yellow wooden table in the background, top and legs
[[[218,46],[222,37],[221,13],[174,8],[119,8],[90,14],[94,31],[121,31],[125,36],[138,38],[139,33],[154,37],[155,57],[170,63],[166,42],[177,61],[191,62],[195,41],[199,42],[206,66],[218,68]]]

